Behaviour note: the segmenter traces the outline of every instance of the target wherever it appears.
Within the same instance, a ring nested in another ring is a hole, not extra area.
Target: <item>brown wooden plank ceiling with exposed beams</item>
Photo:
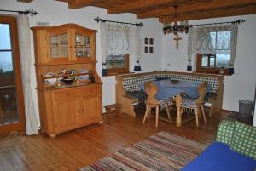
[[[22,1],[22,0],[19,0]],[[23,0],[26,1],[26,0]],[[30,2],[32,0],[27,0]],[[200,20],[256,14],[256,0],[57,0],[69,9],[95,6],[108,14],[132,13],[138,19],[159,18],[160,22]],[[175,10],[174,6],[177,5]]]

